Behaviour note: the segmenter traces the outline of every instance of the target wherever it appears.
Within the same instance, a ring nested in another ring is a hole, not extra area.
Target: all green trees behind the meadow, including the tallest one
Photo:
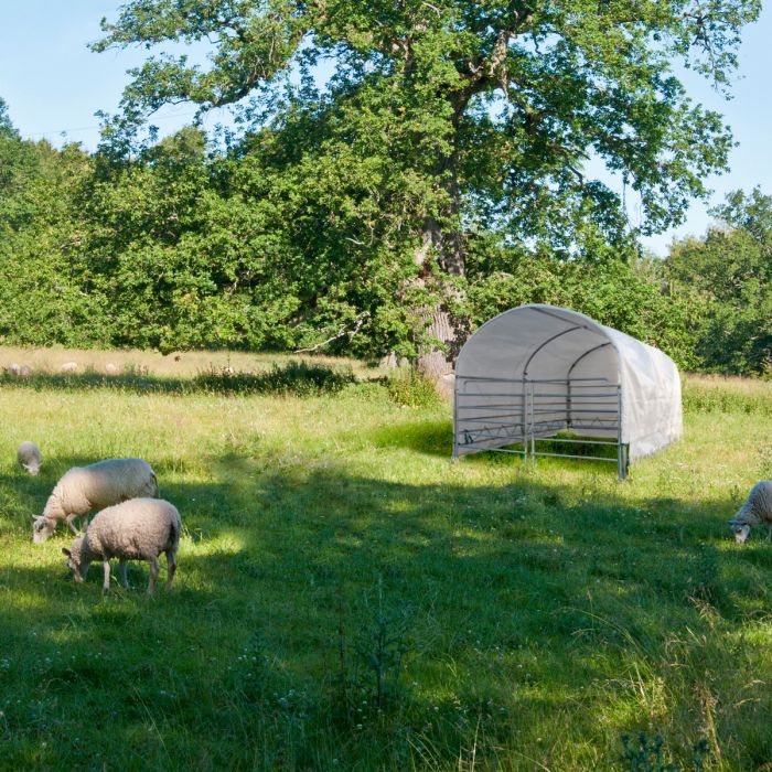
[[[758,3],[532,4],[128,3],[95,50],[206,40],[208,68],[149,55],[94,153],[21,138],[0,100],[0,341],[448,362],[547,302],[684,368],[769,374],[772,197],[733,193],[664,260],[640,247],[731,147],[672,62],[727,88]],[[158,140],[182,100],[236,129]]]

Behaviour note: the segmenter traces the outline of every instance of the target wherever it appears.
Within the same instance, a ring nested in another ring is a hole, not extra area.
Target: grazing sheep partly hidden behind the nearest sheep
[[[45,542],[65,521],[77,534],[73,521],[89,510],[101,510],[127,498],[157,496],[158,480],[142,459],[107,459],[89,467],[73,467],[56,483],[40,517],[34,517],[32,540]]]

